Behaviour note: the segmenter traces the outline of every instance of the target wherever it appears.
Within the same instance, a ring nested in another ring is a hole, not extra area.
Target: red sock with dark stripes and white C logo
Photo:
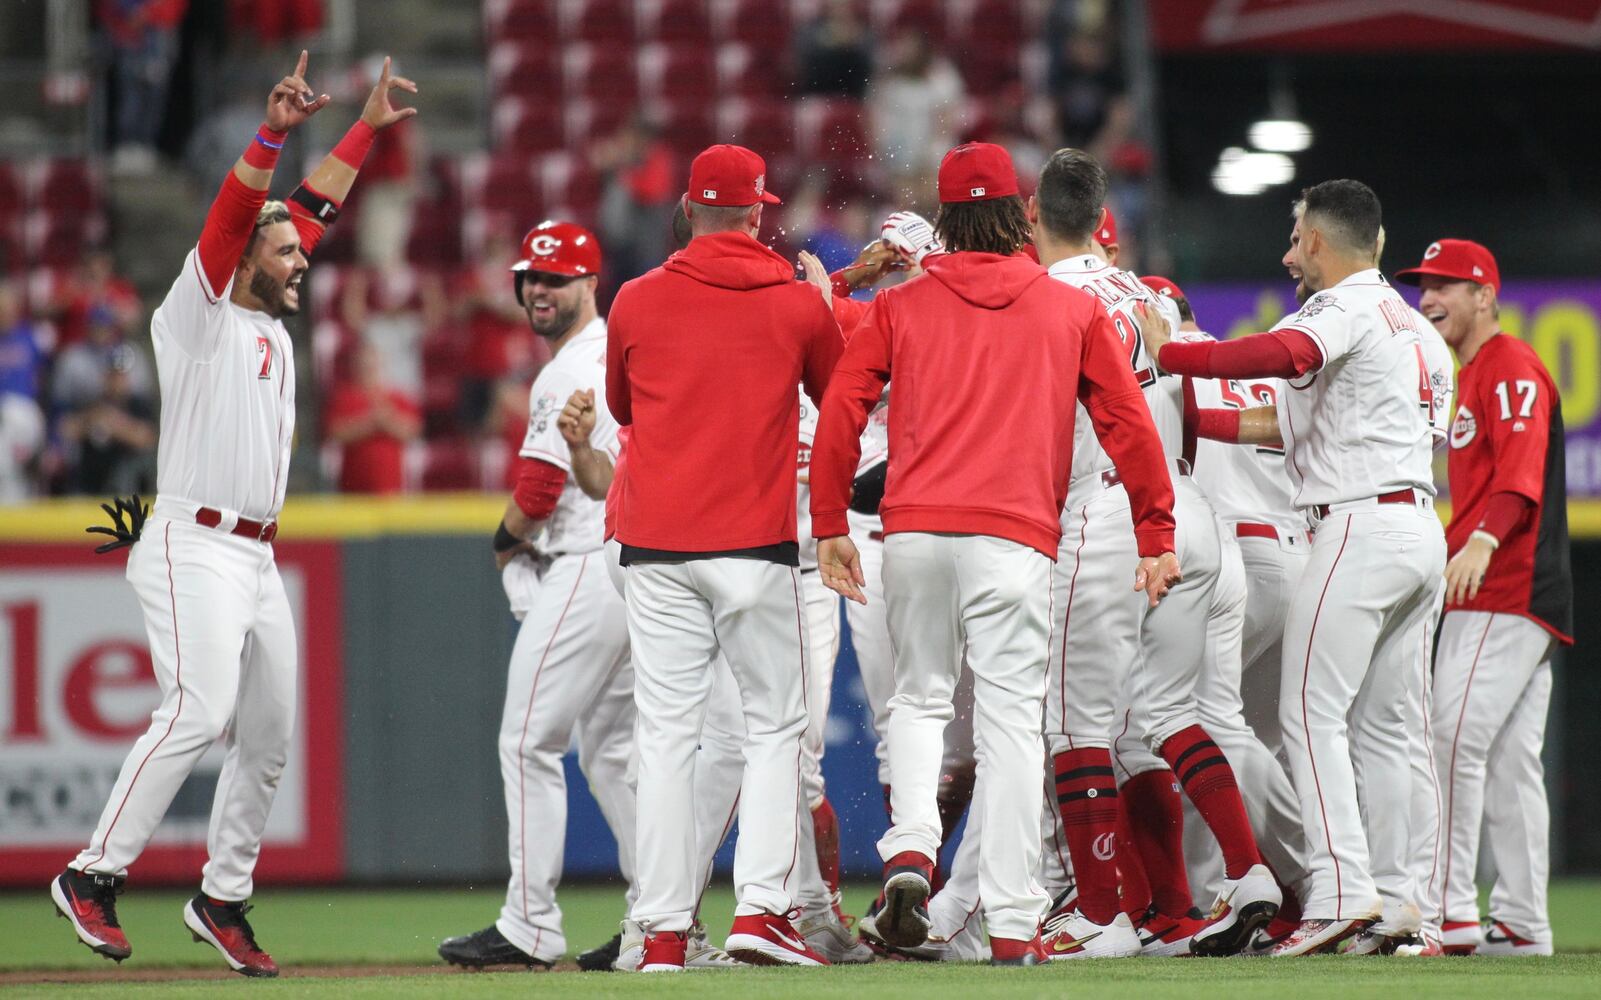
[[[1079,912],[1095,923],[1117,915],[1117,781],[1111,750],[1089,747],[1055,755],[1057,810],[1068,835]]]

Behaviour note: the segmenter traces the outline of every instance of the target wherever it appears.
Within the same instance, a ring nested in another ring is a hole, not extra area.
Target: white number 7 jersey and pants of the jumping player
[[[232,274],[232,272],[229,272]],[[122,875],[200,755],[227,738],[202,890],[248,899],[295,728],[295,621],[272,546],[295,440],[295,355],[280,320],[213,294],[192,250],[150,317],[162,387],[160,498],[128,557],[162,704],[112,786],[82,872]],[[211,523],[215,526],[203,526]]]

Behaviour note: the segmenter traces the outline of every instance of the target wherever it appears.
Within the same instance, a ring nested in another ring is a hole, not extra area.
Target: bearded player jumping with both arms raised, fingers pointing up
[[[306,85],[306,53],[207,213],[200,243],[150,317],[162,387],[160,491],[128,582],[144,611],[162,704],[134,742],[88,846],[50,894],[78,939],[122,962],[133,947],[117,894],[202,754],[227,742],[200,893],[184,925],[229,968],[277,976],[245,918],[261,834],[295,728],[296,638],[272,557],[295,438],[295,358],[283,317],[299,312],[307,256],[338,218],[373,136],[416,109],[416,85],[384,59],[360,120],[288,205],[269,202],[288,131],[328,104]]]

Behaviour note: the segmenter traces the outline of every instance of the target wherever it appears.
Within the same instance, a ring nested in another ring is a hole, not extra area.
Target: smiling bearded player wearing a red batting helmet
[[[607,333],[596,312],[600,245],[573,222],[541,222],[524,237],[511,269],[530,328],[551,346],[551,362],[528,394],[517,488],[493,544],[522,621],[500,733],[511,880],[500,918],[448,938],[439,954],[463,966],[549,968],[567,954],[556,885],[567,830],[562,757],[575,731],[578,765],[616,835],[629,901],[636,896],[634,675],[623,600],[602,571],[604,506],[572,482],[578,461],[615,454],[616,424],[604,416],[583,458],[557,427],[575,390],[605,398]]]

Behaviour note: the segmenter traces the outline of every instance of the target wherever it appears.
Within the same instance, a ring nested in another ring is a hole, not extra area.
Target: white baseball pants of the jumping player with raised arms
[[[272,546],[158,509],[126,574],[144,611],[162,704],[72,867],[126,874],[189,771],[226,738],[200,888],[213,899],[250,899],[295,730],[298,645]]]

